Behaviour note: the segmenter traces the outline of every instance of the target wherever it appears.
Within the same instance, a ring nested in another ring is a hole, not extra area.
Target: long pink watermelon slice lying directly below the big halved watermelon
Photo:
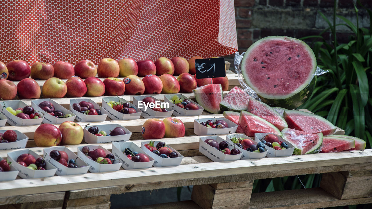
[[[284,118],[280,116],[278,112],[273,110],[269,105],[266,105],[259,100],[255,100],[253,98],[249,99],[248,102],[248,112],[252,113],[253,115],[257,115],[262,119],[270,122],[272,125],[275,125],[279,131],[282,131],[283,128],[288,128],[287,122],[285,122]]]

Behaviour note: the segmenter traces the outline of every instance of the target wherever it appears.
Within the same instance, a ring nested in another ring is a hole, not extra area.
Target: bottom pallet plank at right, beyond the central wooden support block
[[[278,192],[253,193],[251,196],[249,208],[312,209],[367,203],[372,203],[372,197],[339,200],[321,188],[311,188],[285,190]]]

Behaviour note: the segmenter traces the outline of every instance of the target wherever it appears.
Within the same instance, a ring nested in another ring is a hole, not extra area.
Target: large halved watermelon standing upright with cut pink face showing
[[[262,102],[294,109],[312,93],[317,62],[310,46],[286,36],[268,36],[252,44],[241,62],[244,80]]]

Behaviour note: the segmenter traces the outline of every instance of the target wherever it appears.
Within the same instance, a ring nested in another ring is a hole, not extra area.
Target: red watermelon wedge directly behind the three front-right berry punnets
[[[257,133],[273,133],[282,136],[274,125],[244,110],[240,112],[239,124],[247,136],[254,136]]]

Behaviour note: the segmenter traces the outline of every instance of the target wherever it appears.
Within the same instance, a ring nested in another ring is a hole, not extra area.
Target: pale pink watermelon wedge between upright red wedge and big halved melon
[[[219,109],[222,111],[235,111],[240,112],[241,110],[247,111],[247,104],[250,96],[235,86],[226,94],[221,103],[219,103]]]

